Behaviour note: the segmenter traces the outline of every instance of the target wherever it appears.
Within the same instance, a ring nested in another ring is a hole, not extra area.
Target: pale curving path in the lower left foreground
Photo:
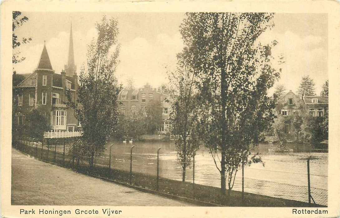
[[[195,206],[38,161],[12,148],[12,205]]]

